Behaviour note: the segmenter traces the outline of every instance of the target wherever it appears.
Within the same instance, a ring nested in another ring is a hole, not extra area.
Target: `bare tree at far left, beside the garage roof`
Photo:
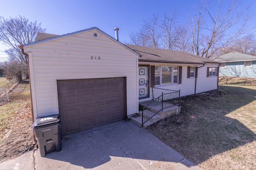
[[[25,17],[5,19],[0,16],[0,41],[10,47],[5,50],[10,60],[28,63],[25,55],[18,48],[18,45],[33,42],[38,32],[45,32],[46,29],[41,28],[41,23],[37,21],[29,22]]]

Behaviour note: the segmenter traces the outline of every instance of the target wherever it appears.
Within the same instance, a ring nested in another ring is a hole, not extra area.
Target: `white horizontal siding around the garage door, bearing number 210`
[[[30,52],[35,118],[58,113],[56,80],[62,79],[126,77],[127,115],[138,112],[138,55],[101,32],[90,30],[25,51]]]

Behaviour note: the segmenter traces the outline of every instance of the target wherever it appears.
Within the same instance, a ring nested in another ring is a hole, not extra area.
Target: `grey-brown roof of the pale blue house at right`
[[[256,56],[248,55],[244,53],[232,52],[228,54],[220,55],[213,59],[218,62],[236,62],[236,61],[256,61]]]

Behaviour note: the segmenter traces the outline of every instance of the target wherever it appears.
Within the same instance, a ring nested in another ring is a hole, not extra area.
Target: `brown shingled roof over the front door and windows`
[[[217,61],[212,61],[198,55],[191,53],[172,51],[166,49],[156,49],[150,47],[142,47],[138,45],[128,45],[125,44],[130,49],[136,51],[141,55],[139,61],[144,62],[155,62],[155,63],[177,63],[177,64],[206,64],[215,63]]]

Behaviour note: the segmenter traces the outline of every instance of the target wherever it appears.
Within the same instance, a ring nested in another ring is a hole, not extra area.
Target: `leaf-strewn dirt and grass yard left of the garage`
[[[25,85],[16,86],[16,89],[23,86],[27,86],[26,82]],[[34,149],[30,94],[27,91],[29,92],[29,89],[13,90],[10,93],[12,100],[0,106],[3,117],[8,113],[0,120],[0,162]],[[14,111],[7,110],[11,107],[17,108]],[[4,108],[7,108],[6,111]]]

